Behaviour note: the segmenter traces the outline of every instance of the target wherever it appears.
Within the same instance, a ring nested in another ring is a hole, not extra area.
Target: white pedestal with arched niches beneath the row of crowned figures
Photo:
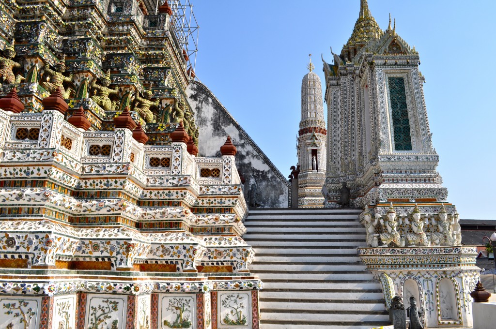
[[[399,295],[415,297],[427,328],[471,328],[470,292],[479,279],[476,247],[359,248],[360,259],[382,283],[387,308]]]

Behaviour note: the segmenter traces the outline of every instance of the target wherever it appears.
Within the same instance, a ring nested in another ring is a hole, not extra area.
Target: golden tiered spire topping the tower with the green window
[[[360,1],[360,14],[348,42],[343,46],[341,57],[347,61],[352,59],[358,51],[369,41],[378,40],[383,31],[375,21],[369,9],[367,0]]]

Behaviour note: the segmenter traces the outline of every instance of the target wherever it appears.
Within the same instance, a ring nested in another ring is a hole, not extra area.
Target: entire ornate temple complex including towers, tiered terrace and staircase
[[[288,179],[195,79],[181,2],[0,0],[0,329],[473,327],[394,21],[357,0],[310,59]]]

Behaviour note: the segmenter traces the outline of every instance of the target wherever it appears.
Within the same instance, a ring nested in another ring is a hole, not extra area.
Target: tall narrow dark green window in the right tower
[[[396,151],[411,151],[412,138],[406,105],[405,80],[403,78],[388,78],[388,82],[393,120],[394,149]]]

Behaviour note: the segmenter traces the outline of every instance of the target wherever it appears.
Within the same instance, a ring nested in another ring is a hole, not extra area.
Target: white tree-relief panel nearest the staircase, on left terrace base
[[[251,305],[248,294],[222,294],[219,299],[221,326],[250,325]]]

